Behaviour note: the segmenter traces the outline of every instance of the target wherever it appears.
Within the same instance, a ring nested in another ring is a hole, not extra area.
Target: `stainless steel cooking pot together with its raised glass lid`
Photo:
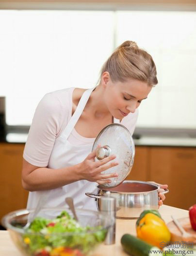
[[[115,161],[119,163],[102,172],[118,174],[117,177],[110,178],[111,183],[97,186],[97,193],[85,193],[95,198],[98,210],[100,210],[100,198],[107,196],[107,191],[110,191],[110,195],[116,199],[116,218],[118,219],[135,219],[143,210],[159,208],[159,185],[143,181],[124,181],[131,172],[135,155],[134,141],[125,126],[113,123],[103,128],[93,144],[93,150],[96,150],[95,161],[115,154]],[[167,192],[169,190],[165,189],[163,194]]]

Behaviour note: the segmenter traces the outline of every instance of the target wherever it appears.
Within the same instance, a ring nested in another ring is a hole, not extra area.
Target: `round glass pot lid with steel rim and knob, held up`
[[[114,188],[123,182],[131,171],[135,155],[135,146],[132,136],[124,125],[113,123],[101,130],[93,144],[92,151],[95,150],[98,145],[101,145],[101,147],[96,151],[95,161],[99,161],[110,154],[116,156],[112,161],[117,161],[118,165],[106,171],[102,171],[102,173],[109,174],[115,172],[118,173],[118,176],[110,178],[111,183],[100,185],[104,188]]]

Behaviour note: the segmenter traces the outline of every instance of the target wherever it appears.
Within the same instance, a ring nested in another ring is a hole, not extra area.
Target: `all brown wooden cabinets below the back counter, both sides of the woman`
[[[24,144],[0,143],[0,219],[25,208],[28,192],[21,185]],[[136,146],[127,180],[168,184],[164,204],[188,209],[196,204],[196,148]]]

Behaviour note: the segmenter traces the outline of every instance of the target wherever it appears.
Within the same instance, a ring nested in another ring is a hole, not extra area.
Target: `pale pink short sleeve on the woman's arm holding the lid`
[[[23,157],[27,162],[38,167],[48,166],[64,112],[62,103],[52,93],[46,94],[39,102],[24,148]]]

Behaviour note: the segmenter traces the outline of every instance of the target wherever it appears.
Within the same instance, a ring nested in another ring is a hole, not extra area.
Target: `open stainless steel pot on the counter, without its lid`
[[[91,198],[95,198],[99,210],[100,197],[106,196],[110,191],[111,196],[116,199],[116,218],[117,219],[136,219],[141,212],[147,209],[159,208],[158,189],[160,187],[144,181],[124,181],[115,188],[103,188],[98,186],[96,193],[85,193]],[[168,193],[165,189],[162,193]]]

